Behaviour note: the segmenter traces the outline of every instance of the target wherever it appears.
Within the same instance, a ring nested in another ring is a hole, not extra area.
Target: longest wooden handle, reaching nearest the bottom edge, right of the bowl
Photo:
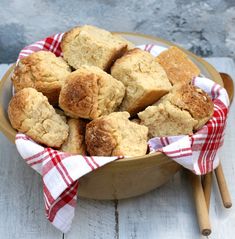
[[[200,232],[203,236],[208,236],[211,234],[211,226],[206,200],[202,189],[201,177],[194,175],[193,173],[190,173],[190,177]]]

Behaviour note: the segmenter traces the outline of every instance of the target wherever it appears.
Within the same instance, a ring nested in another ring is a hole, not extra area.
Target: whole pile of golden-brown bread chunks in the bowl
[[[176,47],[156,58],[94,26],[66,32],[63,57],[39,51],[12,75],[12,127],[71,154],[142,156],[156,136],[192,134],[213,102],[191,81],[198,67]]]

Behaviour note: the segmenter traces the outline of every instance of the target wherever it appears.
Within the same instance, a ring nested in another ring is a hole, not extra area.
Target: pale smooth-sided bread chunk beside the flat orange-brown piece
[[[156,102],[172,87],[155,58],[137,48],[115,62],[111,75],[125,85],[126,95],[120,110],[128,111],[131,115]]]

